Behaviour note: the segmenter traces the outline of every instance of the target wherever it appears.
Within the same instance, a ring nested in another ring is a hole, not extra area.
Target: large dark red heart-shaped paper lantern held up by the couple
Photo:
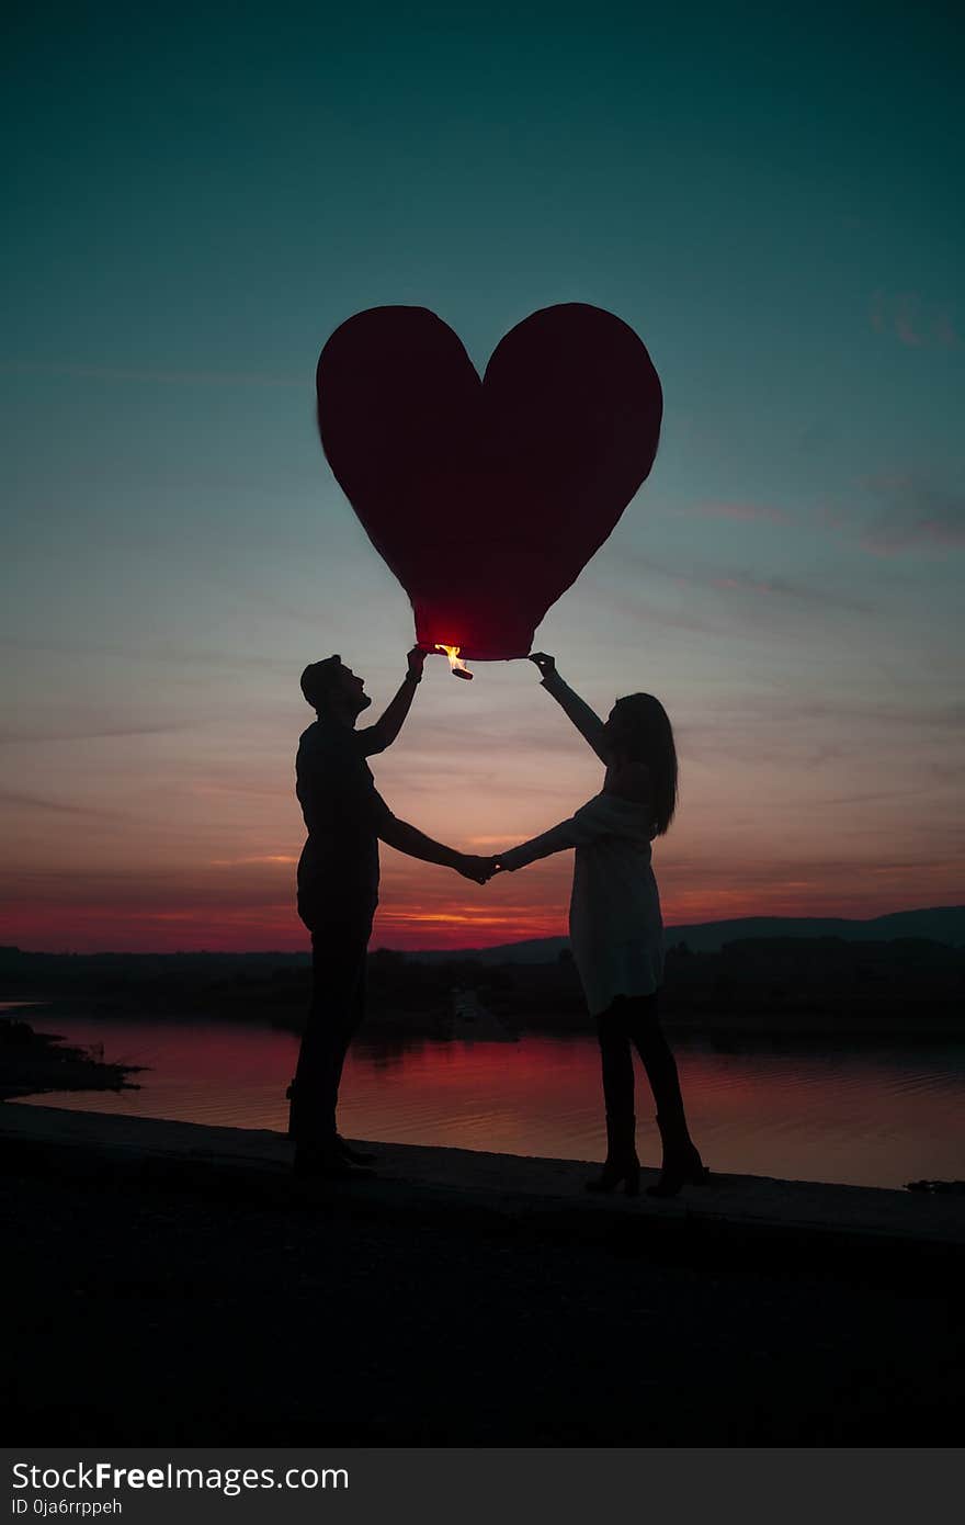
[[[485,378],[424,307],[357,313],[325,345],[319,430],[369,540],[409,593],[416,640],[524,657],[657,453],[663,395],[611,313],[547,307]]]

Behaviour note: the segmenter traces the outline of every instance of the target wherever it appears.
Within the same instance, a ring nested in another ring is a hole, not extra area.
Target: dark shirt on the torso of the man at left
[[[392,811],[375,788],[363,740],[335,720],[316,720],[299,740],[296,795],[308,840],[299,859],[299,913],[378,900],[378,830]]]

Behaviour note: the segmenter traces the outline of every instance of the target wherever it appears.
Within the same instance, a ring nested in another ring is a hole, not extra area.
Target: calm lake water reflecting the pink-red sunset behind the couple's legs
[[[287,1127],[285,1086],[299,1039],[252,1022],[56,1017],[38,1031],[102,1046],[148,1069],[139,1090],[56,1092],[24,1103],[88,1112]],[[364,1034],[364,1029],[363,1029]],[[796,1180],[902,1186],[965,1176],[965,1043],[909,1039],[854,1045],[800,1037],[674,1034],[691,1127],[712,1170]],[[341,1084],[349,1138],[509,1154],[602,1159],[599,1061],[592,1034],[360,1039]],[[659,1162],[652,1103],[637,1083],[643,1164]]]

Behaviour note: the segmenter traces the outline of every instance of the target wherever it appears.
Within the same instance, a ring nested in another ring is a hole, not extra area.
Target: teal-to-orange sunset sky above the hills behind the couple
[[[413,639],[314,427],[383,303],[479,369],[553,302],[649,349],[654,470],[537,645],[671,714],[665,920],[965,898],[954,8],[15,6],[0,70],[0,942],[306,947],[299,674],[375,718]],[[428,662],[373,772],[480,852],[601,787],[527,662]],[[373,944],[563,933],[570,875],[383,848]]]

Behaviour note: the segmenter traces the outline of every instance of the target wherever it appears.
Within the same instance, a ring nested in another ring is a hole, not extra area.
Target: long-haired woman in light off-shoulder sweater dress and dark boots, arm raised
[[[663,1167],[654,1197],[700,1185],[707,1170],[691,1139],[677,1064],[659,1017],[663,923],[651,868],[651,842],[663,836],[677,805],[677,752],[663,705],[652,694],[617,698],[604,723],[556,673],[553,657],[531,657],[543,686],[607,766],[604,788],[570,820],[500,852],[494,871],[520,869],[576,848],[570,944],[587,1006],[596,1019],[607,1107],[607,1162],[587,1191],[627,1196],[640,1190],[636,1150],[633,1043],[657,1104]]]

